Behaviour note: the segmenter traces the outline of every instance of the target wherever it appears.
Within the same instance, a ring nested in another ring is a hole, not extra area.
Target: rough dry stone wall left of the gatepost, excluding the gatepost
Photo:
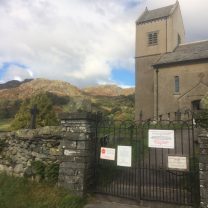
[[[32,177],[34,161],[59,163],[61,127],[44,127],[0,134],[0,171]]]

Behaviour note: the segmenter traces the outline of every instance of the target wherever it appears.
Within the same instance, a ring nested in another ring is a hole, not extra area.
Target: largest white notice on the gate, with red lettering
[[[150,129],[148,146],[153,148],[174,149],[174,130]]]

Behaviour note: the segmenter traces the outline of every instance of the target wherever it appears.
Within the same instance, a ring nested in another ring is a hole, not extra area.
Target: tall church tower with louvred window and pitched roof
[[[136,21],[136,93],[135,119],[155,116],[155,74],[153,64],[185,40],[178,1],[174,5],[148,10]]]

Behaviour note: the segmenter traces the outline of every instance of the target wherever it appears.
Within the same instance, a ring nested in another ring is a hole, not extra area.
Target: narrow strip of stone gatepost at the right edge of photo
[[[208,132],[203,131],[199,136],[200,155],[200,207],[208,207]]]

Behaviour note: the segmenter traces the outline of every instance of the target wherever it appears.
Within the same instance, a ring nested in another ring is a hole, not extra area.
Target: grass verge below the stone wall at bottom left
[[[0,174],[0,207],[82,208],[85,199],[64,189]]]

